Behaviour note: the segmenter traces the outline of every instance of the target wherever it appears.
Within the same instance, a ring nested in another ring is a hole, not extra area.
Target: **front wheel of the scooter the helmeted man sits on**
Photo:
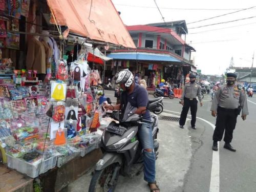
[[[112,184],[110,184],[110,182],[117,166],[119,165],[112,164],[102,170],[95,170],[90,182],[89,192],[114,192],[118,181],[119,171],[116,174],[116,178],[114,178],[114,182]]]

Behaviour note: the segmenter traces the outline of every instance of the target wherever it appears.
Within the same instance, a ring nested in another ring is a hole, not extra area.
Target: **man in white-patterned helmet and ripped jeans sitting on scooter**
[[[151,120],[150,112],[146,109],[148,104],[148,93],[146,89],[134,82],[134,76],[131,71],[125,69],[115,76],[115,83],[120,84],[123,89],[121,103],[117,105],[105,104],[106,110],[122,110],[127,102],[137,108],[136,114],[143,116],[143,119]],[[139,127],[138,136],[143,147],[144,157],[144,180],[152,192],[160,192],[156,184],[156,157],[154,152],[151,124],[144,122]]]

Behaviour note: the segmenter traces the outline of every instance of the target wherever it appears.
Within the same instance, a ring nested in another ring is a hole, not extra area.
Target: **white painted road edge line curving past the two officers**
[[[256,104],[256,103],[254,103]],[[175,112],[175,111],[169,111],[169,110],[163,110],[165,112],[171,112],[171,113],[178,113],[179,112]],[[191,115],[188,115],[191,116]],[[212,124],[211,122],[197,117],[197,119],[200,119],[204,122],[206,122],[207,124],[209,124],[212,129],[215,129],[215,125]],[[218,142],[219,143],[219,142]],[[219,192],[220,191],[220,154],[219,154],[219,145],[218,145],[218,151],[212,151],[212,163],[211,163],[211,175],[210,175],[210,188],[209,188],[209,192]]]

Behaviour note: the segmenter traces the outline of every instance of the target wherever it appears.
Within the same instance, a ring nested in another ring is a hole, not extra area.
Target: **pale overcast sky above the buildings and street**
[[[112,2],[121,12],[125,25],[163,22],[154,0],[112,0]],[[201,69],[203,74],[218,75],[229,67],[231,57],[235,67],[251,67],[253,51],[256,51],[256,2],[253,2],[251,0],[156,0],[165,22],[186,21],[188,28],[186,42],[197,50],[193,55],[197,68]],[[253,6],[255,7],[251,8]],[[247,10],[197,22],[241,9]],[[229,22],[237,19],[242,20]],[[191,22],[197,23],[189,24]],[[222,22],[229,23],[211,25]],[[200,27],[205,25],[211,26]],[[254,63],[256,67],[256,62]]]

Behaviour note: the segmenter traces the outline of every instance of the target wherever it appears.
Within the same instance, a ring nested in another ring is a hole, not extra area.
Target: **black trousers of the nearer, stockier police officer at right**
[[[214,141],[221,141],[225,130],[224,141],[230,143],[233,138],[233,131],[237,124],[236,110],[228,110],[218,107],[217,119],[215,124],[214,135],[212,139]]]

